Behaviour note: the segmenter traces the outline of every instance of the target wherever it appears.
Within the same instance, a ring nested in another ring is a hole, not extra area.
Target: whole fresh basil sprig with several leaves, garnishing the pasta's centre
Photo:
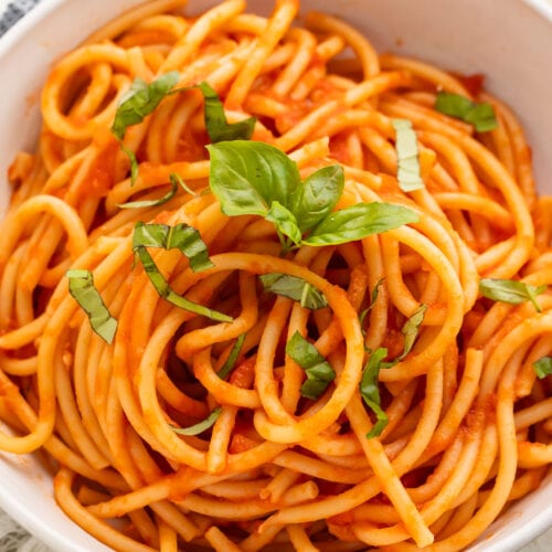
[[[301,182],[297,164],[268,144],[234,140],[208,149],[209,182],[222,211],[273,222],[284,251],[337,245],[418,221],[414,211],[389,203],[359,203],[332,212],[344,185],[340,166],[319,169]]]

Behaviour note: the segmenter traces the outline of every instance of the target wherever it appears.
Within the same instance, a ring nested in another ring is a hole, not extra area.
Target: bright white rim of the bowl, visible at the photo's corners
[[[19,41],[24,39],[24,36],[28,35],[33,28],[43,22],[51,13],[59,10],[63,4],[74,1],[76,0],[39,0],[38,4],[33,6],[29,12],[24,13],[18,21],[14,22],[12,26],[10,26],[10,29],[4,32],[2,36],[0,36],[0,61],[6,55],[9,55],[11,49]],[[552,0],[518,1],[530,7],[533,11],[540,14],[543,20],[548,21],[552,25]],[[6,6],[0,6],[0,9],[6,10],[8,6],[9,2],[6,2]],[[0,15],[1,13],[2,12],[0,12]],[[4,453],[0,452],[0,455],[3,454]],[[548,478],[550,479],[550,474]],[[67,552],[77,550],[75,543],[70,541],[67,535],[43,521],[42,517],[33,513],[29,509],[29,506],[19,499],[18,495],[11,496],[11,493],[1,492],[0,507],[33,537],[42,543],[52,546],[53,550]],[[67,520],[71,523],[74,523],[68,518]],[[520,546],[528,544],[531,540],[535,539],[550,528],[552,528],[552,506],[543,509],[537,517],[533,517],[530,524],[521,527],[518,531],[516,531],[516,533],[509,535],[507,548],[503,548],[502,543],[502,548],[500,550],[508,550],[512,552],[518,551],[520,550]],[[97,541],[97,543],[98,549],[105,550],[104,545],[99,541]],[[476,544],[477,550],[479,550],[481,544],[482,543]],[[81,546],[78,546],[78,550],[83,550],[84,552],[84,549],[81,549]],[[498,552],[498,549],[491,543],[488,550],[491,552]]]

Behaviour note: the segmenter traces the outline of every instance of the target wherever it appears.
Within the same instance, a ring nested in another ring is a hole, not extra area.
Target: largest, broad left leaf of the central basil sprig
[[[299,185],[297,164],[274,146],[234,140],[206,148],[211,156],[209,183],[229,216],[265,216],[274,201],[287,206]]]

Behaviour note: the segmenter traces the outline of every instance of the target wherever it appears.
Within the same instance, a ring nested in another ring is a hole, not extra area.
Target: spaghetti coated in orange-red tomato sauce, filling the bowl
[[[380,56],[348,23],[295,25],[298,0],[266,18],[244,0],[199,15],[183,3],[147,2],[64,55],[36,152],[10,168],[0,448],[44,449],[60,507],[115,550],[465,549],[552,461],[551,382],[535,373],[552,354],[552,200],[522,128],[474,81]],[[129,88],[173,71],[118,136]],[[467,118],[436,109],[439,92]],[[344,174],[329,211],[413,217],[322,246],[301,226],[295,247],[279,203],[232,215],[214,176],[232,142],[204,147],[219,97],[222,131],[255,117],[252,142],[296,163],[301,185]],[[495,129],[474,128],[476,100]],[[139,221],[195,229],[206,268],[172,230],[137,241]],[[280,277],[299,298],[272,293]],[[68,282],[88,286],[103,329]],[[499,282],[516,300],[484,293]]]

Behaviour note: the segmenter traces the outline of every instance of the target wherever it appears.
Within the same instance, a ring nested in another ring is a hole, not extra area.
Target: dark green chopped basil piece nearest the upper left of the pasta
[[[177,85],[180,74],[171,71],[156,78],[151,83],[146,83],[141,78],[136,78],[130,89],[120,98],[112,132],[119,140],[125,138],[128,127],[138,125],[148,115],[153,113],[161,100]]]

